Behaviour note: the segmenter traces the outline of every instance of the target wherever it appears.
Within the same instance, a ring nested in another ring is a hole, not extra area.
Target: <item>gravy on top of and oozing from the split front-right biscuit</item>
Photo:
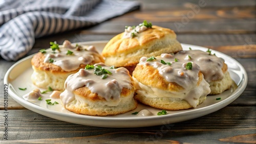
[[[153,61],[146,61],[147,59],[146,57],[142,57],[139,65],[154,67],[167,82],[177,83],[184,88],[181,91],[170,92],[143,85],[135,80],[137,82],[136,88],[146,90],[148,97],[180,98],[186,100],[191,106],[196,107],[198,99],[210,93],[209,84],[204,79],[201,81],[200,85],[197,86],[200,67],[196,63],[191,62],[193,66],[192,69],[186,69],[188,61],[178,60],[178,62],[176,62],[175,58],[170,54],[162,54]],[[169,62],[172,64],[163,64],[161,60],[165,63]]]

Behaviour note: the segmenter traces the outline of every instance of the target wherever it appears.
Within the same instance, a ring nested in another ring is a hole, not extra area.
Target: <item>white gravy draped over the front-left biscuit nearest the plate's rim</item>
[[[133,82],[126,68],[112,69],[103,63],[94,66],[97,65],[102,65],[103,68],[111,71],[112,75],[108,74],[106,79],[101,79],[102,76],[94,74],[94,69],[80,69],[76,74],[70,75],[65,82],[65,91],[60,94],[63,105],[72,102],[75,99],[73,91],[83,86],[88,87],[93,93],[98,93],[106,101],[117,101],[118,103],[122,88],[133,89]]]

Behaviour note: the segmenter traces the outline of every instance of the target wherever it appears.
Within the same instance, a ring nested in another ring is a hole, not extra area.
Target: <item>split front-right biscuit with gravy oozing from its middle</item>
[[[153,60],[142,57],[133,71],[133,78],[137,93],[135,99],[159,109],[195,108],[210,93],[209,84],[197,64],[177,62],[169,54]]]

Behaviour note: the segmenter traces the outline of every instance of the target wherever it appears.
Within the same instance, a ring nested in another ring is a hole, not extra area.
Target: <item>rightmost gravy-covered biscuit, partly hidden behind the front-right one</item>
[[[232,79],[227,71],[227,64],[211,51],[180,51],[174,55],[177,60],[193,61],[200,66],[204,79],[210,84],[210,94],[220,94],[230,88]]]

